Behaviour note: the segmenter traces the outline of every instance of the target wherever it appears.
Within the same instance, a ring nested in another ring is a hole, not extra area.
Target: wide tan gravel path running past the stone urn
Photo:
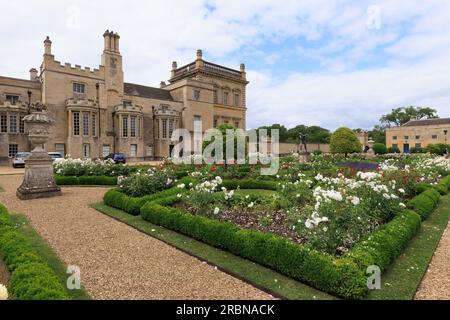
[[[21,201],[21,175],[0,176],[2,202],[25,214],[94,299],[271,299],[272,296],[89,207],[106,188],[63,188]]]

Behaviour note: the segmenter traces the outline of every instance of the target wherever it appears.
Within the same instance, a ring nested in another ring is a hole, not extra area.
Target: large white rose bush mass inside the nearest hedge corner
[[[318,174],[315,180],[314,204],[305,208],[310,213],[298,230],[313,247],[328,253],[346,252],[405,206],[399,196],[404,190],[384,184],[377,172],[358,172],[355,178]]]

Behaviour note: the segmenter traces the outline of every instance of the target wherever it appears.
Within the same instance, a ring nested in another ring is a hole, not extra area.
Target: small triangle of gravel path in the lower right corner
[[[417,300],[450,300],[450,222],[415,298]]]

